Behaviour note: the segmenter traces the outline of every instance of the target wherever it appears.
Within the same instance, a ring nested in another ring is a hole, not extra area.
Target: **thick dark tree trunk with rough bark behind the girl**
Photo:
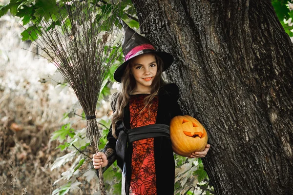
[[[270,0],[133,0],[166,72],[207,129],[216,194],[293,194],[293,44]]]

